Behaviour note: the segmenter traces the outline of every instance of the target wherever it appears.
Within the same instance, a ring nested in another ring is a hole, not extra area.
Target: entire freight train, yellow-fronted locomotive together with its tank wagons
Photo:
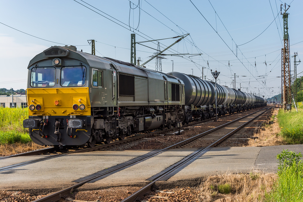
[[[28,65],[29,117],[23,127],[40,145],[84,145],[244,111],[266,99],[179,72],[168,74],[52,46]]]

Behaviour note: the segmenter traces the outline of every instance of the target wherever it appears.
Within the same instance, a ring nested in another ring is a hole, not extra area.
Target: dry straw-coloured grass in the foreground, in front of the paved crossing
[[[226,202],[262,201],[277,179],[277,174],[251,172],[250,174],[212,175],[206,177],[201,184],[200,202],[210,202],[216,199]],[[230,185],[230,194],[220,194],[219,185]]]

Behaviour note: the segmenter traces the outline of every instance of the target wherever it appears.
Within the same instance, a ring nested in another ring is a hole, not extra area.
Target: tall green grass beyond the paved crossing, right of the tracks
[[[281,127],[280,135],[288,144],[303,144],[303,111],[284,112],[279,110],[278,121]]]

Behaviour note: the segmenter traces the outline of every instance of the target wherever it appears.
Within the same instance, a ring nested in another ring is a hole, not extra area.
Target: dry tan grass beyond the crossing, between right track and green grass
[[[275,114],[278,114],[278,109],[275,109],[274,115]],[[278,136],[281,128],[277,123],[277,118],[274,118],[273,121],[274,124],[265,126],[265,131],[261,131],[260,134],[254,134],[254,136],[258,136],[259,138],[249,140],[247,144],[245,144],[245,147],[264,147],[287,144],[283,137]]]

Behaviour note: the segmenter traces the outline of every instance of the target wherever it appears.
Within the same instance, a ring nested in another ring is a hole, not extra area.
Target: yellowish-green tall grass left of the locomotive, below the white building
[[[0,144],[28,143],[28,129],[23,120],[28,118],[28,108],[0,108]]]

